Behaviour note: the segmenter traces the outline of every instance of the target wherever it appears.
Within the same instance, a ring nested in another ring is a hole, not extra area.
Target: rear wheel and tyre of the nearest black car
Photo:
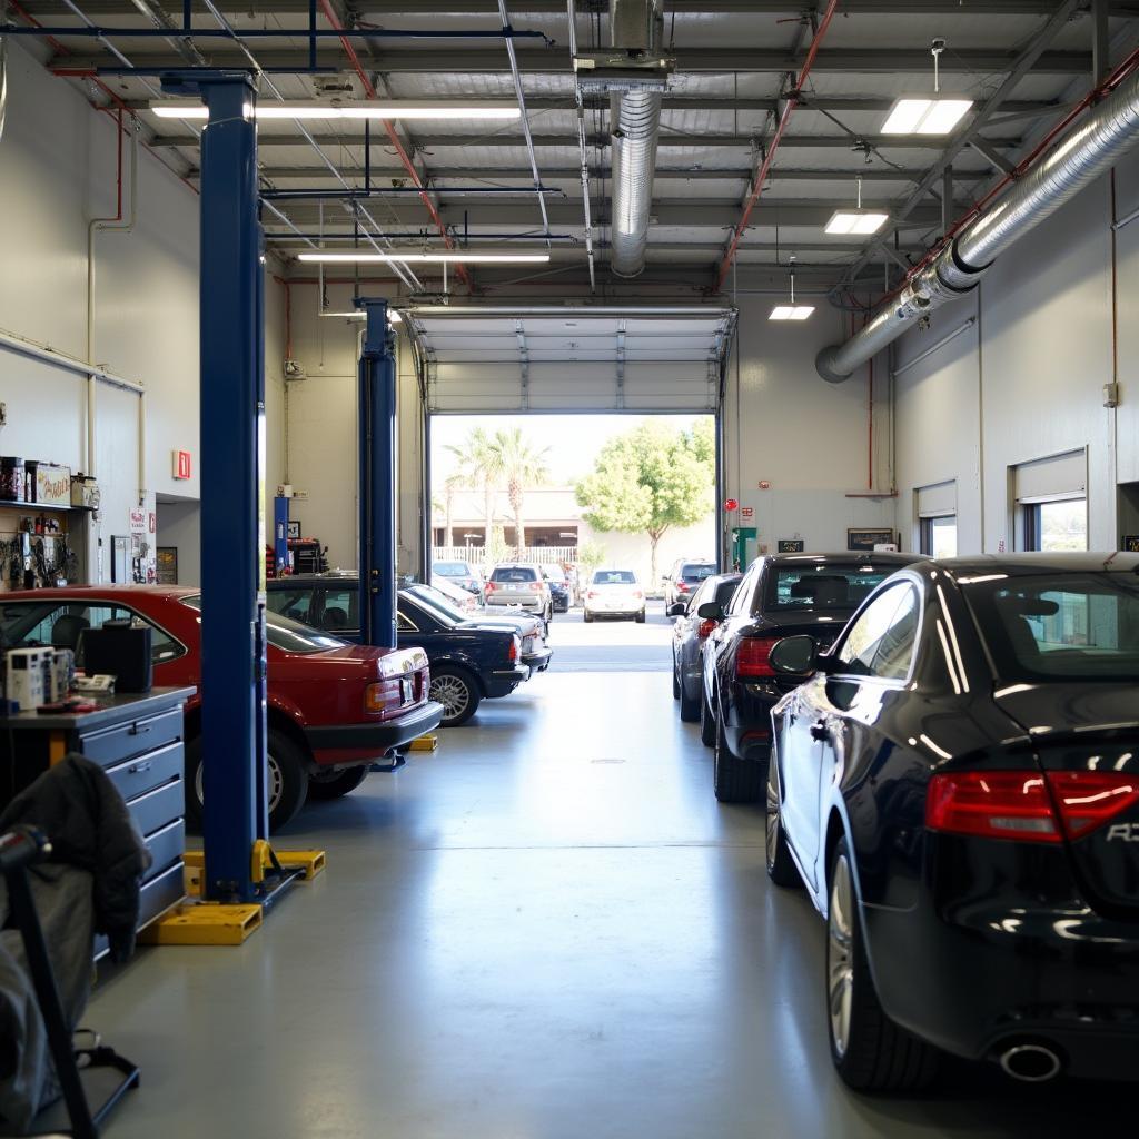
[[[882,1008],[862,941],[845,837],[835,846],[827,882],[825,991],[835,1068],[855,1091],[920,1091],[936,1076],[940,1052],[894,1024]]]

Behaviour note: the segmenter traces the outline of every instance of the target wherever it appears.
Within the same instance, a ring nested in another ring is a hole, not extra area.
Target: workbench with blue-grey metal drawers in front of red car
[[[150,851],[139,928],[185,896],[182,706],[194,688],[92,698],[92,712],[0,716],[0,811],[51,764],[77,752],[107,772]],[[96,943],[96,956],[106,947]]]

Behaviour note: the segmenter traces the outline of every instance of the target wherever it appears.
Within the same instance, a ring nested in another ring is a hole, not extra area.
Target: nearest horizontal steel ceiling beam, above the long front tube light
[[[211,48],[214,46],[211,44]],[[243,68],[248,62],[239,51],[212,50],[211,63],[218,68]],[[261,66],[271,72],[297,72],[309,69],[309,52],[305,49],[277,49],[259,52]],[[947,54],[942,59],[943,75],[1003,74],[1011,69],[1017,59],[1015,51],[984,48],[960,48]],[[142,71],[161,71],[174,67],[181,62],[173,51],[146,51],[133,56],[134,66]],[[372,66],[391,74],[449,74],[485,75],[503,71],[502,52],[478,49],[418,49],[405,51],[377,50]],[[96,69],[105,67],[114,71],[117,60],[107,52],[90,51],[75,55],[56,55],[48,67],[56,69]],[[317,51],[317,66],[345,69],[344,56],[329,47]],[[518,66],[533,75],[571,74],[570,54],[558,49],[527,48],[518,50]],[[795,71],[798,60],[794,52],[781,48],[689,48],[683,54],[687,74],[739,72],[741,74],[782,74]],[[1088,75],[1091,72],[1090,51],[1044,51],[1035,60],[1032,69],[1047,75]],[[921,75],[929,72],[928,48],[831,48],[820,51],[814,71],[820,74],[882,74]]]

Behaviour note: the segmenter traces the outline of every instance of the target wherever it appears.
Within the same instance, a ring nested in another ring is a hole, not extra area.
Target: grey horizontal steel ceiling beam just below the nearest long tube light
[[[329,147],[363,146],[362,132],[360,134],[349,133],[347,131],[337,134],[318,134],[313,131],[312,134],[317,141],[327,144]],[[538,147],[567,147],[572,149],[576,149],[577,147],[576,134],[535,134],[533,138],[534,146]],[[609,136],[593,134],[590,136],[588,141],[591,147],[604,147],[607,149],[609,146]],[[661,132],[659,147],[662,149],[677,149],[680,147],[746,147],[749,150],[759,141],[760,137],[757,134],[710,134],[706,132],[671,134],[667,128],[664,128]],[[944,140],[942,139],[919,134],[862,134],[858,137],[858,141],[865,142],[878,150],[940,150],[944,145]],[[439,147],[476,147],[478,149],[493,148],[499,150],[508,147],[521,150],[526,145],[525,139],[521,134],[503,133],[485,137],[477,134],[417,134],[416,142],[427,150]],[[780,149],[853,151],[854,148],[851,146],[851,142],[852,139],[846,134],[793,134],[782,140]],[[989,144],[990,146],[999,147],[1018,147],[1022,145],[1022,139],[989,139]],[[156,134],[150,142],[153,147],[195,147],[197,145],[198,140],[194,134]],[[257,136],[257,148],[260,150],[281,146],[304,146],[304,140],[298,139],[295,134],[270,134],[264,131]],[[861,157],[861,148],[858,153]],[[493,177],[493,170],[489,170],[487,174]]]

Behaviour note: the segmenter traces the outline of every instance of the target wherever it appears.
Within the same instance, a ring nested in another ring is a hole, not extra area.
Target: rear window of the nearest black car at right
[[[1139,580],[1123,573],[962,582],[1001,679],[1139,678]]]

